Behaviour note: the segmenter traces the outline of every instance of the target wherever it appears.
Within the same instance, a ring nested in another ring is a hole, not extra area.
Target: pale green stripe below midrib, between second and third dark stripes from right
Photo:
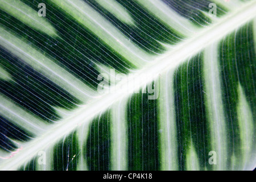
[[[158,98],[160,169],[164,171],[179,170],[173,77],[174,71],[162,75]]]

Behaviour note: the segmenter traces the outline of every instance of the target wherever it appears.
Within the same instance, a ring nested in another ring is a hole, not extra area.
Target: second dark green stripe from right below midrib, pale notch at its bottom
[[[199,158],[200,169],[209,168],[208,130],[203,92],[203,62],[197,55],[177,68],[174,76],[179,169],[185,170],[191,142]]]

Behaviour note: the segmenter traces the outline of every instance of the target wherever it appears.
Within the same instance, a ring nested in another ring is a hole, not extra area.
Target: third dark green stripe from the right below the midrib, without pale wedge
[[[127,103],[128,170],[158,170],[158,126],[156,100],[134,94]]]

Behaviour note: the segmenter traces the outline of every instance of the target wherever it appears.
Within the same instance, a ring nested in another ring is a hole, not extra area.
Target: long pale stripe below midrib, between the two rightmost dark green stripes
[[[217,153],[217,164],[213,169],[226,169],[228,146],[226,143],[226,121],[222,103],[220,68],[217,43],[205,49],[204,54],[204,98],[207,109],[207,122],[210,127],[210,144]]]

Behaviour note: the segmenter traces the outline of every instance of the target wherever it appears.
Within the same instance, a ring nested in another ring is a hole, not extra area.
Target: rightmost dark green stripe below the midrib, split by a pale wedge
[[[236,33],[230,34],[220,44],[220,68],[222,77],[223,100],[228,122],[229,156],[233,154],[237,160],[241,159],[241,139],[238,125],[238,83],[245,90],[246,100],[249,102],[255,124],[256,92],[255,92],[255,65],[256,56],[253,40],[253,23],[248,23]],[[255,132],[255,130],[254,130]],[[232,169],[231,159],[228,160]],[[239,168],[239,162],[234,169]]]

